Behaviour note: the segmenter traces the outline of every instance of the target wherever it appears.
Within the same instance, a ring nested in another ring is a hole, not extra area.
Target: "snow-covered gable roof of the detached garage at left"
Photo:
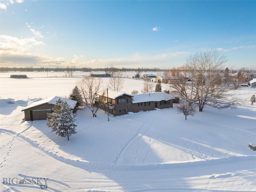
[[[36,107],[42,104],[54,104],[56,105],[57,100],[60,99],[62,101],[66,101],[68,103],[68,105],[73,109],[76,106],[77,101],[71,100],[71,99],[66,99],[66,98],[62,98],[62,97],[58,97],[58,96],[54,96],[54,97],[50,97],[47,99],[43,99],[37,102],[33,102],[32,104],[26,106],[24,109],[22,109],[21,111],[24,111],[26,109],[32,108],[32,107]]]

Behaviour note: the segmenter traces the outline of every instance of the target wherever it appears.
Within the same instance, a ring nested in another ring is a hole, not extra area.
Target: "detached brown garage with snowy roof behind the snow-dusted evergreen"
[[[73,109],[73,112],[75,111],[77,101],[54,96],[33,102],[32,104],[22,109],[21,111],[24,111],[25,114],[25,121],[46,120],[47,113],[52,113],[52,108],[54,105],[56,105],[56,102],[59,99],[68,102],[69,106]]]

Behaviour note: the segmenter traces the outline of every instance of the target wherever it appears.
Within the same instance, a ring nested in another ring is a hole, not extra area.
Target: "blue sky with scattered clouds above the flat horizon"
[[[173,68],[216,49],[256,68],[256,1],[0,0],[9,67]]]

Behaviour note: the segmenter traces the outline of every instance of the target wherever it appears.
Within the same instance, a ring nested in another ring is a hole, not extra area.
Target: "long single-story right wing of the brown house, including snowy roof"
[[[175,100],[175,97],[166,92],[132,94],[132,97],[132,112],[172,108],[172,101]]]

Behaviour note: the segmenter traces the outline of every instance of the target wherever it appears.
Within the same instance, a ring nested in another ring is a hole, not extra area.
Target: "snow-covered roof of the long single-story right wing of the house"
[[[142,94],[132,94],[133,103],[149,102],[149,101],[162,101],[175,99],[174,96],[166,92],[154,92],[154,93],[142,93]]]

